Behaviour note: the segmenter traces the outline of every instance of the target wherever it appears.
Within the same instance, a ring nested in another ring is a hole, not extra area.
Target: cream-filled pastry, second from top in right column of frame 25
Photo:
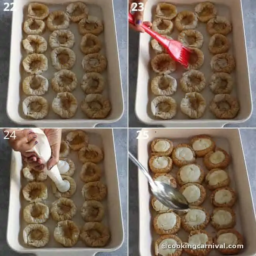
[[[214,168],[225,169],[230,164],[231,157],[227,151],[216,147],[204,156],[204,165],[208,170]]]

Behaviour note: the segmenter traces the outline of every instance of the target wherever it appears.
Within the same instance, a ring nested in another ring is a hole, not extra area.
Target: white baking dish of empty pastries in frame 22
[[[106,119],[88,119],[81,111],[81,101],[85,95],[80,88],[81,79],[85,71],[82,69],[82,59],[84,55],[80,50],[81,35],[78,32],[78,25],[73,23],[69,26],[72,29],[75,36],[75,45],[73,50],[76,54],[76,64],[72,69],[76,73],[78,78],[78,85],[73,94],[78,100],[78,110],[76,115],[71,119],[61,119],[51,109],[52,100],[56,93],[52,90],[49,83],[48,92],[43,95],[50,105],[49,113],[45,119],[34,120],[26,119],[21,108],[21,102],[24,100],[25,95],[21,90],[22,79],[24,78],[23,67],[21,61],[23,56],[26,56],[22,47],[22,24],[26,17],[27,6],[32,0],[14,0],[14,11],[12,15],[12,33],[11,33],[11,46],[10,46],[10,70],[9,70],[9,86],[7,93],[7,115],[9,118],[19,124],[23,125],[35,125],[38,127],[93,127],[98,123],[113,123],[118,121],[123,115],[123,91],[121,83],[118,44],[116,36],[116,25],[114,18],[114,5],[112,0],[86,0],[81,1],[88,4],[90,14],[95,15],[102,19],[104,22],[104,31],[99,36],[102,41],[102,54],[104,54],[108,60],[107,71],[103,73],[106,77],[106,89],[103,94],[109,97],[112,104],[112,111]],[[71,2],[77,2],[76,0],[56,0],[52,5],[51,0],[38,0],[49,5],[50,12],[52,10],[65,10],[66,5]],[[47,39],[50,35],[48,29],[43,34],[43,37]],[[19,42],[19,43],[17,43]],[[53,73],[56,72],[50,61],[50,46],[48,43],[48,49],[46,52],[48,57],[48,71],[43,73],[48,80],[53,77]],[[114,75],[113,75],[114,74]],[[49,81],[50,82],[50,81]]]

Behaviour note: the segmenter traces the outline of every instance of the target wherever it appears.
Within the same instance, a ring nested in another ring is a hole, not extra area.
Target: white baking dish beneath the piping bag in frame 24
[[[70,130],[62,130],[65,135],[68,131]],[[47,246],[38,249],[25,246],[22,239],[22,230],[25,227],[26,223],[22,218],[21,209],[24,207],[24,204],[28,204],[28,202],[24,201],[21,194],[21,188],[27,182],[21,176],[21,154],[19,152],[13,151],[10,167],[10,203],[7,224],[7,243],[13,250],[19,253],[33,253],[39,256],[55,254],[57,255],[59,253],[61,253],[62,255],[75,254],[78,256],[92,256],[99,251],[115,251],[122,245],[124,239],[124,232],[112,129],[87,129],[84,131],[88,133],[90,143],[99,145],[104,150],[104,161],[102,162],[101,167],[104,170],[104,177],[102,177],[102,181],[107,185],[107,198],[102,202],[106,209],[106,216],[103,222],[109,227],[111,233],[111,240],[109,244],[107,244],[106,247],[102,248],[90,248],[85,247],[85,245],[81,241],[78,241],[78,243],[74,247],[64,248],[60,244],[55,242],[53,238],[53,228],[56,226],[57,222],[55,222],[50,217],[50,219],[45,223],[45,225],[50,229],[50,240]],[[76,171],[73,178],[77,183],[77,189],[72,199],[76,203],[77,213],[73,217],[73,220],[78,225],[78,227],[81,227],[85,223],[82,220],[80,214],[81,205],[84,201],[80,190],[84,183],[81,182],[79,178],[81,163],[79,163],[78,158],[75,158],[75,156],[72,154],[77,153],[71,151],[69,155],[71,156],[71,159],[76,165]],[[48,187],[48,206],[50,206],[50,202],[53,202],[57,199],[52,194],[49,182],[49,180],[46,181]]]

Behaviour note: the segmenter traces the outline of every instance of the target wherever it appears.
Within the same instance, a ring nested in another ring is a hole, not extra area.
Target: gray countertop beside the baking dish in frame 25
[[[129,150],[137,156],[138,129],[129,129]],[[241,129],[242,145],[249,174],[249,181],[256,203],[256,129]],[[137,256],[138,252],[138,169],[129,161],[129,256]]]

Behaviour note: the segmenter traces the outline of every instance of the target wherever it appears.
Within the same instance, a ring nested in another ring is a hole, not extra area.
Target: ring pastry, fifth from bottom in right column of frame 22
[[[78,30],[81,35],[90,33],[97,36],[103,31],[103,23],[98,17],[89,15],[81,19],[78,24]]]

